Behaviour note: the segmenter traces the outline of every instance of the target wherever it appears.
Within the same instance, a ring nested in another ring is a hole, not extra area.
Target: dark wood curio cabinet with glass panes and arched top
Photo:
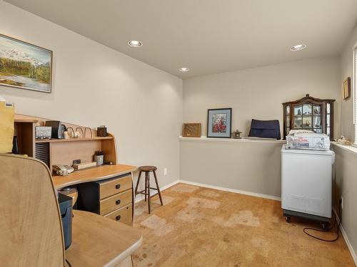
[[[283,103],[284,139],[290,130],[312,130],[324,133],[333,140],[333,99],[319,99],[306,95]]]

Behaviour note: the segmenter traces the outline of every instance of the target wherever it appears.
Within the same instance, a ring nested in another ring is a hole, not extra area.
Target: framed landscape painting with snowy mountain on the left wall
[[[0,34],[0,85],[51,93],[52,51]]]

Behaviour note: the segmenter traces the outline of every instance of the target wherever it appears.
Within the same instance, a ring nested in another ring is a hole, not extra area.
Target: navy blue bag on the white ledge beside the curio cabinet
[[[278,120],[251,120],[249,137],[274,138],[280,140],[280,125]]]

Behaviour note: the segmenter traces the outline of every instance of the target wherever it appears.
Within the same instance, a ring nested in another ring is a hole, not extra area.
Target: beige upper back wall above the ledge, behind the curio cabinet
[[[309,93],[336,99],[338,110],[337,88],[341,88],[337,56],[191,78],[183,80],[183,121],[201,122],[206,135],[207,109],[233,108],[232,130],[238,127],[243,135],[248,135],[252,118],[280,120],[282,129],[281,103]],[[338,120],[335,125],[339,129]]]

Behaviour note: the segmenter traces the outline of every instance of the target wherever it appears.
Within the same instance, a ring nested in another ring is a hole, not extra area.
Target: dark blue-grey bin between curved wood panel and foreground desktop
[[[64,229],[64,248],[67,249],[72,243],[72,198],[59,193],[59,209]]]

